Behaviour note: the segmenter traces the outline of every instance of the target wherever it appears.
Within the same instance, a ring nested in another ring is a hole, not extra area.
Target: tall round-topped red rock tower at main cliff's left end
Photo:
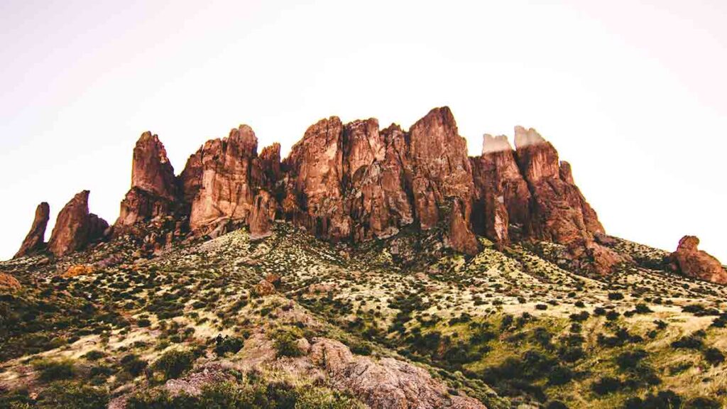
[[[132,186],[121,202],[115,234],[126,234],[139,222],[172,215],[177,201],[177,178],[164,145],[157,135],[144,132],[134,147]]]

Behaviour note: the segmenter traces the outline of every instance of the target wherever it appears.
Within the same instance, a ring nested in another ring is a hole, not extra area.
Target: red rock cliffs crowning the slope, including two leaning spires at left
[[[89,231],[100,229],[82,199],[62,212],[53,253],[82,248]],[[447,107],[408,131],[395,124],[382,130],[377,119],[321,119],[283,160],[278,143],[258,154],[253,130],[241,125],[204,143],[179,176],[159,138],[145,132],[114,234],[144,237],[158,250],[186,231],[214,236],[246,225],[265,237],[275,218],[334,241],[385,238],[413,226],[441,229],[443,242],[461,253],[478,253],[480,234],[501,249],[521,240],[561,243],[580,266],[601,273],[623,261],[595,242],[603,226],[549,142],[515,127],[514,150],[505,136],[485,135],[482,154],[468,157]],[[43,219],[36,217],[21,250],[42,247]],[[174,234],[145,236],[155,220],[175,221]]]

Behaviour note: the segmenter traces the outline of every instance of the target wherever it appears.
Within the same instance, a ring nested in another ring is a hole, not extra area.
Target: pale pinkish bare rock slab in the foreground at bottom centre
[[[326,370],[334,385],[373,409],[486,409],[478,400],[449,394],[422,368],[393,358],[374,361],[356,356],[339,341],[313,338],[309,357]]]

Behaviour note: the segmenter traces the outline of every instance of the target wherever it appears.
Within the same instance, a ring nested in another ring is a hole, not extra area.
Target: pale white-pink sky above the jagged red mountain
[[[727,1],[0,1],[0,258],[39,202],[110,223],[132,148],[174,169],[249,124],[287,154],[318,119],[404,128],[450,106],[536,128],[609,234],[727,263]]]

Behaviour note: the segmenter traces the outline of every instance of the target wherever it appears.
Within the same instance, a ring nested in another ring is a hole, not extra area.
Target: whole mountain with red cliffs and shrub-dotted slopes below
[[[727,271],[606,234],[537,131],[449,108],[134,147],[0,263],[0,408],[720,408]]]

